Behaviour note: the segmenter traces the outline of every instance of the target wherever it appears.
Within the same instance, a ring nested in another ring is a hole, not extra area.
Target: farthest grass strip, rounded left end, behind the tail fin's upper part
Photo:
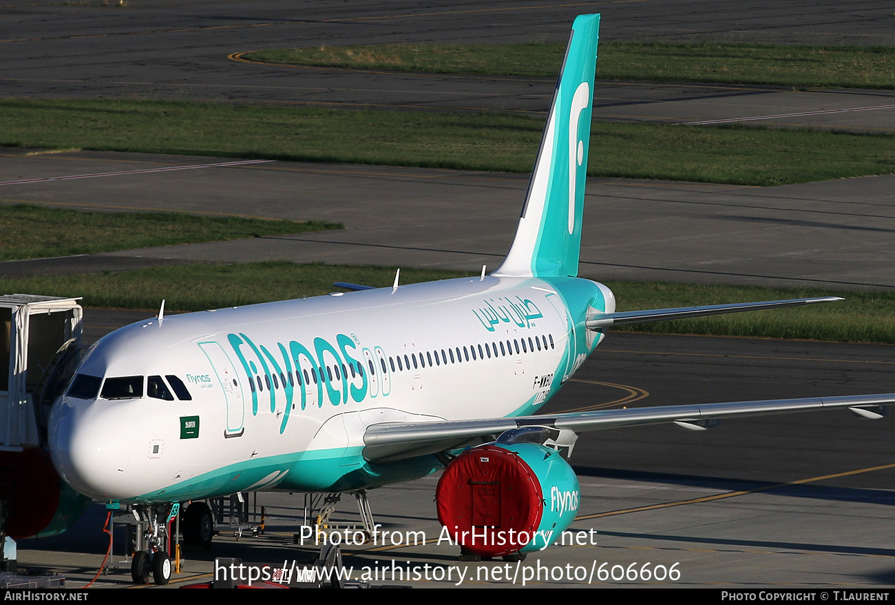
[[[563,44],[282,48],[244,53],[250,61],[389,71],[556,78]],[[895,48],[764,44],[601,43],[597,78],[653,82],[895,88]]]

